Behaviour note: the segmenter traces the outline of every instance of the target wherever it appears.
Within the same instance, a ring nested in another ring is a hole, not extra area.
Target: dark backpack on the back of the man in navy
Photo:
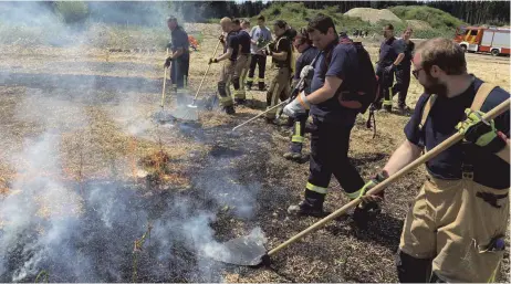
[[[371,62],[369,53],[364,49],[362,42],[353,42],[350,39],[343,38],[338,44],[353,44],[355,46],[359,66],[357,77],[365,78],[361,82],[361,85],[356,86],[356,90],[341,92],[338,102],[344,107],[357,109],[361,114],[364,114],[378,96],[378,81],[373,63]],[[332,56],[328,55],[325,57],[327,65],[330,65],[330,60],[332,60]]]

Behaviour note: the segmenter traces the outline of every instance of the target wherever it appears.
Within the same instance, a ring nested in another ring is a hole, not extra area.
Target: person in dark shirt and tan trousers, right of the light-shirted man
[[[267,92],[267,107],[270,108],[281,101],[288,99],[290,96],[290,77],[291,77],[291,59],[292,46],[291,41],[286,36],[288,23],[282,20],[275,21],[273,24],[273,32],[277,35],[275,43],[270,44],[264,50],[265,55],[272,56],[272,62],[277,67],[277,75],[270,84]],[[268,112],[265,115],[267,123],[278,124],[275,122],[277,109]]]

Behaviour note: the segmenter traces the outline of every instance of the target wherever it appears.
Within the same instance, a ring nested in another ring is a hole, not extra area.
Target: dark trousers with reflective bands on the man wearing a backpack
[[[353,125],[321,122],[313,116],[311,129],[310,176],[305,201],[322,208],[332,173],[351,198],[357,198],[364,180],[350,162],[350,134]]]

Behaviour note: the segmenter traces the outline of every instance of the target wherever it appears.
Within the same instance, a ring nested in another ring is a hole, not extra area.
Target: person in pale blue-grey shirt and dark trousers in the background
[[[255,73],[255,66],[259,66],[259,77],[255,78],[259,91],[264,91],[264,72],[267,69],[267,55],[263,46],[271,42],[271,32],[264,25],[264,15],[258,17],[258,25],[252,28],[250,31],[250,38],[252,45],[250,52],[252,53],[252,60],[250,62],[249,77],[247,78],[247,88],[251,90],[254,82],[253,75]]]

